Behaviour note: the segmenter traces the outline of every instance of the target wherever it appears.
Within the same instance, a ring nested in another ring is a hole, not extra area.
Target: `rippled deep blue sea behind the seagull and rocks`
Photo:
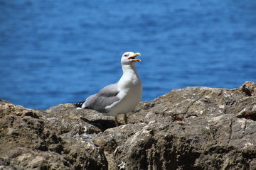
[[[82,101],[127,51],[142,54],[142,101],[256,81],[256,1],[0,0],[0,98],[16,105]]]

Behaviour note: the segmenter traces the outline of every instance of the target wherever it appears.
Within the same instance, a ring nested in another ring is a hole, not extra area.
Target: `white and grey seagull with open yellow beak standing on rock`
[[[139,52],[124,52],[121,57],[122,77],[115,84],[110,84],[74,105],[77,109],[87,108],[98,111],[103,115],[114,116],[114,123],[119,125],[117,115],[124,114],[124,122],[127,124],[127,113],[133,111],[142,99],[142,81],[135,67],[135,58]]]

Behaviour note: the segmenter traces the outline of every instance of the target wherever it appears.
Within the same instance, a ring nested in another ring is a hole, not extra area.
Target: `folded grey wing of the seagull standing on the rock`
[[[82,108],[90,108],[102,113],[107,113],[105,108],[110,106],[115,101],[119,101],[117,94],[119,89],[117,84],[110,84],[101,89],[97,94],[89,96],[85,103],[82,104]]]

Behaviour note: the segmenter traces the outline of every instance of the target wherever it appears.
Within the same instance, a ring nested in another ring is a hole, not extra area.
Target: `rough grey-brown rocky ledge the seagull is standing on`
[[[72,104],[41,111],[1,100],[0,113],[0,169],[256,169],[249,81],[174,89],[139,103],[119,127]]]

